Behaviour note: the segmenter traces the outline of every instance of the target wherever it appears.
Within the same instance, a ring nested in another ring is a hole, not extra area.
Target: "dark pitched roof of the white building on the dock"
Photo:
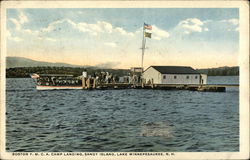
[[[150,66],[150,67],[153,67],[161,74],[200,74],[192,67],[187,67],[187,66]]]

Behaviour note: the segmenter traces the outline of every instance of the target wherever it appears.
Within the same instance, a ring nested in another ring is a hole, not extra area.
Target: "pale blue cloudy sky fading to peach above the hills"
[[[7,9],[7,56],[111,68],[237,66],[237,8]]]

